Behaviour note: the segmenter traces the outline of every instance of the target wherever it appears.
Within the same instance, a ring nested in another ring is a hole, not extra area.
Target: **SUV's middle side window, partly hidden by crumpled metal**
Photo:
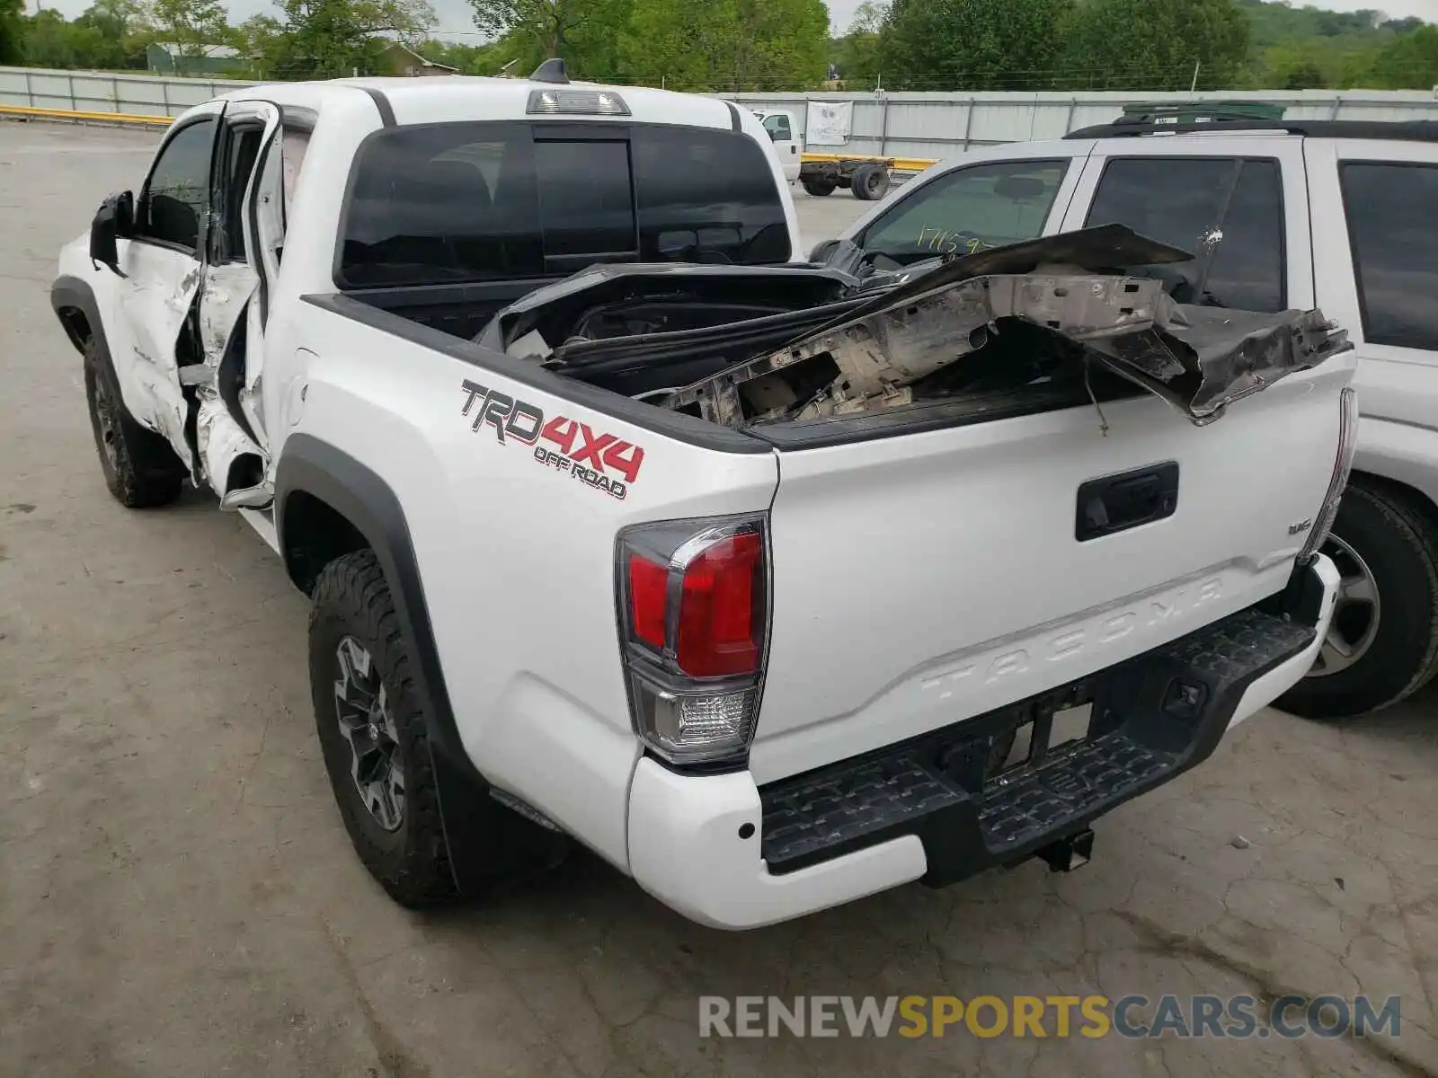
[[[1103,170],[1089,224],[1126,224],[1195,256],[1204,250],[1204,237],[1218,229],[1222,240],[1202,295],[1201,257],[1155,269],[1178,277],[1173,298],[1242,310],[1284,308],[1283,181],[1277,161],[1116,158]]]

